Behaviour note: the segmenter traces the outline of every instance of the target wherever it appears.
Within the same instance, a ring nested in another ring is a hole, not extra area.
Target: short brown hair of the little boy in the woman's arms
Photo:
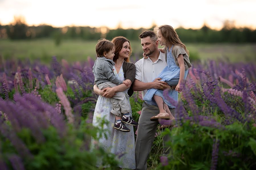
[[[97,57],[103,57],[104,52],[108,53],[110,50],[112,50],[115,47],[113,42],[108,41],[106,39],[99,39],[99,41],[96,44],[96,54]]]

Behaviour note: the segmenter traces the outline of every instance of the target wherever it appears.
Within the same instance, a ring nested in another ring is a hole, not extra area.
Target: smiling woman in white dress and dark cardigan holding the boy
[[[132,52],[130,41],[125,37],[115,37],[112,39],[112,42],[116,47],[114,52],[115,56],[113,58],[113,61],[115,62],[113,67],[114,74],[120,78],[120,80],[127,79],[129,85],[126,86],[125,84],[120,84],[113,88],[105,88],[104,90],[99,90],[99,88],[94,85],[93,90],[99,95],[99,98],[93,115],[93,125],[100,123],[99,118],[104,118],[105,121],[110,122],[104,127],[104,129],[110,131],[107,139],[103,137],[99,140],[99,143],[105,150],[109,150],[116,155],[124,154],[120,158],[120,168],[136,169],[133,126],[128,124],[126,125],[127,128],[131,130],[127,133],[113,128],[116,118],[115,115],[110,113],[112,106],[110,101],[107,99],[112,97],[116,92],[124,92],[129,102],[129,97],[133,94],[130,87],[135,79],[136,68],[133,63],[129,63],[129,58]],[[132,116],[132,113],[130,113],[130,116]],[[97,166],[101,167],[101,163],[99,162]]]

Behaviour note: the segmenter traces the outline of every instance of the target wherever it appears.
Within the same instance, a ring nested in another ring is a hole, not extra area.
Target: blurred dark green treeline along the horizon
[[[153,29],[152,26],[150,29]],[[62,39],[84,39],[98,40],[106,38],[111,40],[115,36],[124,36],[129,40],[138,40],[138,36],[146,28],[140,29],[109,29],[107,27],[62,27],[56,28],[50,25],[28,26],[21,20],[16,20],[15,24],[0,24],[0,39],[40,39],[53,38],[56,44]],[[184,29],[182,27],[176,29],[181,41],[183,42],[233,42],[233,43],[252,43],[256,42],[256,30],[249,28],[236,28],[231,22],[224,22],[220,31],[210,29],[204,25],[200,29]]]

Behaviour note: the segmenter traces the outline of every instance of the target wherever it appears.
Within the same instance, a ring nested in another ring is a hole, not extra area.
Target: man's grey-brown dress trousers
[[[175,109],[169,108],[172,113]],[[158,121],[151,121],[150,118],[159,114],[159,109],[157,106],[148,105],[146,102],[142,104],[141,115],[139,118],[139,125],[137,131],[137,138],[135,142],[135,160],[137,170],[146,170],[147,169],[147,159],[150,153],[153,141],[155,138],[155,132]],[[167,154],[167,146],[165,143],[169,141],[169,135],[163,137],[163,147],[164,152]]]

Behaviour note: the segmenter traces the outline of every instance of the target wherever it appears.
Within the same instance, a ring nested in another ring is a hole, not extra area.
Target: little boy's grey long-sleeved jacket
[[[93,65],[94,82],[98,86],[101,83],[109,82],[119,85],[123,81],[114,75],[114,61],[105,57],[98,57]]]

